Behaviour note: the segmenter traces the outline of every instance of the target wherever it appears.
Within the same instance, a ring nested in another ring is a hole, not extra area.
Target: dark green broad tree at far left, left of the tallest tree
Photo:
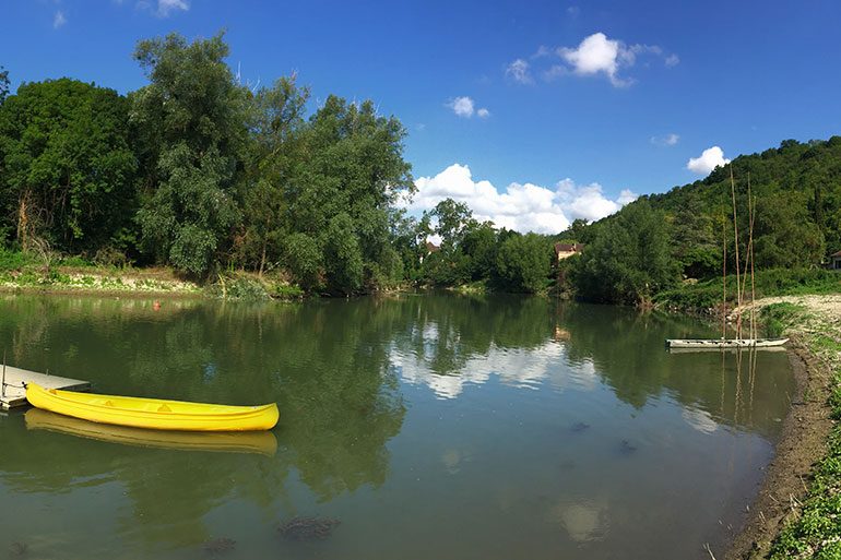
[[[0,105],[0,207],[24,249],[44,239],[93,252],[128,227],[138,164],[127,118],[117,92],[69,79],[23,84]]]

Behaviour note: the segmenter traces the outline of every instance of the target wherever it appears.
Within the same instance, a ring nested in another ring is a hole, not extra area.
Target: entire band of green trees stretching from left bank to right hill
[[[449,199],[406,215],[396,202],[415,187],[396,118],[336,96],[310,110],[295,75],[241,85],[227,55],[221,34],[142,40],[150,83],[126,96],[71,79],[10,95],[0,71],[0,248],[198,279],[253,271],[309,293],[477,283],[633,303],[720,275],[724,243],[735,254],[732,167],[743,233],[750,180],[758,269],[814,267],[841,249],[838,136],[738,157],[557,236],[521,235]],[[556,241],[585,249],[558,263]]]

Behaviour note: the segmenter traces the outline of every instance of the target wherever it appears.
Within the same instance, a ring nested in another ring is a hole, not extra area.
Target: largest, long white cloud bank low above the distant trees
[[[554,188],[512,182],[500,192],[490,181],[475,181],[470,167],[453,164],[435,177],[415,180],[417,192],[402,205],[412,211],[431,210],[445,199],[464,202],[476,219],[516,231],[557,234],[576,218],[594,221],[617,212],[637,195],[624,190],[616,200],[607,198],[599,183],[577,184],[564,179]]]

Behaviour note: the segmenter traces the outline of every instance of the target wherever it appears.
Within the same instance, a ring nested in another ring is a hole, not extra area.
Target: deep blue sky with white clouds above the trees
[[[3,0],[2,10],[0,64],[13,87],[67,75],[126,93],[145,83],[137,40],[227,29],[244,81],[296,70],[313,104],[371,98],[399,117],[420,187],[413,210],[452,195],[518,229],[550,233],[723,158],[841,133],[833,0]]]

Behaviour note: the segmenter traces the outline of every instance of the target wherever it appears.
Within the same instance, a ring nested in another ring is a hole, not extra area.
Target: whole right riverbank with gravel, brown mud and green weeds
[[[792,338],[797,390],[775,456],[724,559],[839,558],[841,296],[774,297],[753,307]]]

